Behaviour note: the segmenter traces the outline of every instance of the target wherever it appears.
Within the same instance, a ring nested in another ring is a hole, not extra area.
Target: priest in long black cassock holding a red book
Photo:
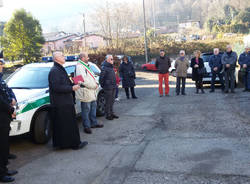
[[[87,142],[81,142],[76,122],[73,92],[80,88],[73,85],[65,71],[62,52],[53,53],[54,66],[49,73],[51,117],[53,122],[53,146],[59,149],[81,149]]]

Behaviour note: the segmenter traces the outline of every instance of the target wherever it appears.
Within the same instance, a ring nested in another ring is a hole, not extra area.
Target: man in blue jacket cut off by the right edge
[[[244,71],[244,83],[245,89],[244,92],[250,92],[250,46],[245,48],[245,52],[240,55],[239,64],[241,70]]]

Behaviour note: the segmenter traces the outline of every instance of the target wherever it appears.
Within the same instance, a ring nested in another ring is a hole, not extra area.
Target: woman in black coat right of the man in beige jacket
[[[196,93],[199,93],[199,89],[201,89],[202,93],[204,92],[203,89],[203,74],[199,73],[199,70],[202,70],[204,68],[204,62],[203,59],[200,57],[201,52],[195,51],[194,52],[195,57],[191,59],[191,67],[192,67],[192,80],[195,81],[196,85]]]

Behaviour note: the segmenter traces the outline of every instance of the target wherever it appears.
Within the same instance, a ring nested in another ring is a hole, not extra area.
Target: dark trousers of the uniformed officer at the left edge
[[[8,114],[0,113],[0,177],[6,175],[9,156],[9,132],[10,117]]]

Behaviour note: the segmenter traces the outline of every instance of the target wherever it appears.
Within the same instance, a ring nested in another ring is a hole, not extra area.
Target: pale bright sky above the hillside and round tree
[[[16,9],[24,8],[42,25],[43,32],[83,32],[82,14],[86,15],[86,31],[95,31],[91,14],[105,0],[0,0],[0,21],[8,21]],[[108,2],[139,0],[108,0]]]

